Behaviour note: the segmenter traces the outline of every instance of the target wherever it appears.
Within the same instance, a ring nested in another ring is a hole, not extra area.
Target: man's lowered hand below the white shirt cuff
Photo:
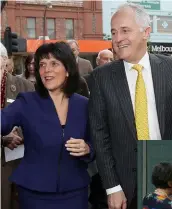
[[[109,209],[126,209],[127,199],[123,191],[114,192],[108,195],[108,207]]]

